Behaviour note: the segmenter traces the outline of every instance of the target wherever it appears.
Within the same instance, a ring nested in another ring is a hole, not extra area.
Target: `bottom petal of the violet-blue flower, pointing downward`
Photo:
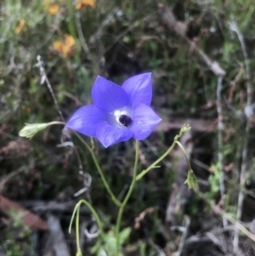
[[[105,146],[131,139],[132,132],[127,128],[116,128],[108,123],[103,123],[97,129],[97,138]]]

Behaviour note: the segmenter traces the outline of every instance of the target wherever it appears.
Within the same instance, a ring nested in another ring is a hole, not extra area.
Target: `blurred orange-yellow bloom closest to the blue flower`
[[[75,39],[70,35],[65,35],[64,40],[58,40],[54,42],[54,49],[62,55],[63,58],[70,56],[73,53],[75,46]]]

